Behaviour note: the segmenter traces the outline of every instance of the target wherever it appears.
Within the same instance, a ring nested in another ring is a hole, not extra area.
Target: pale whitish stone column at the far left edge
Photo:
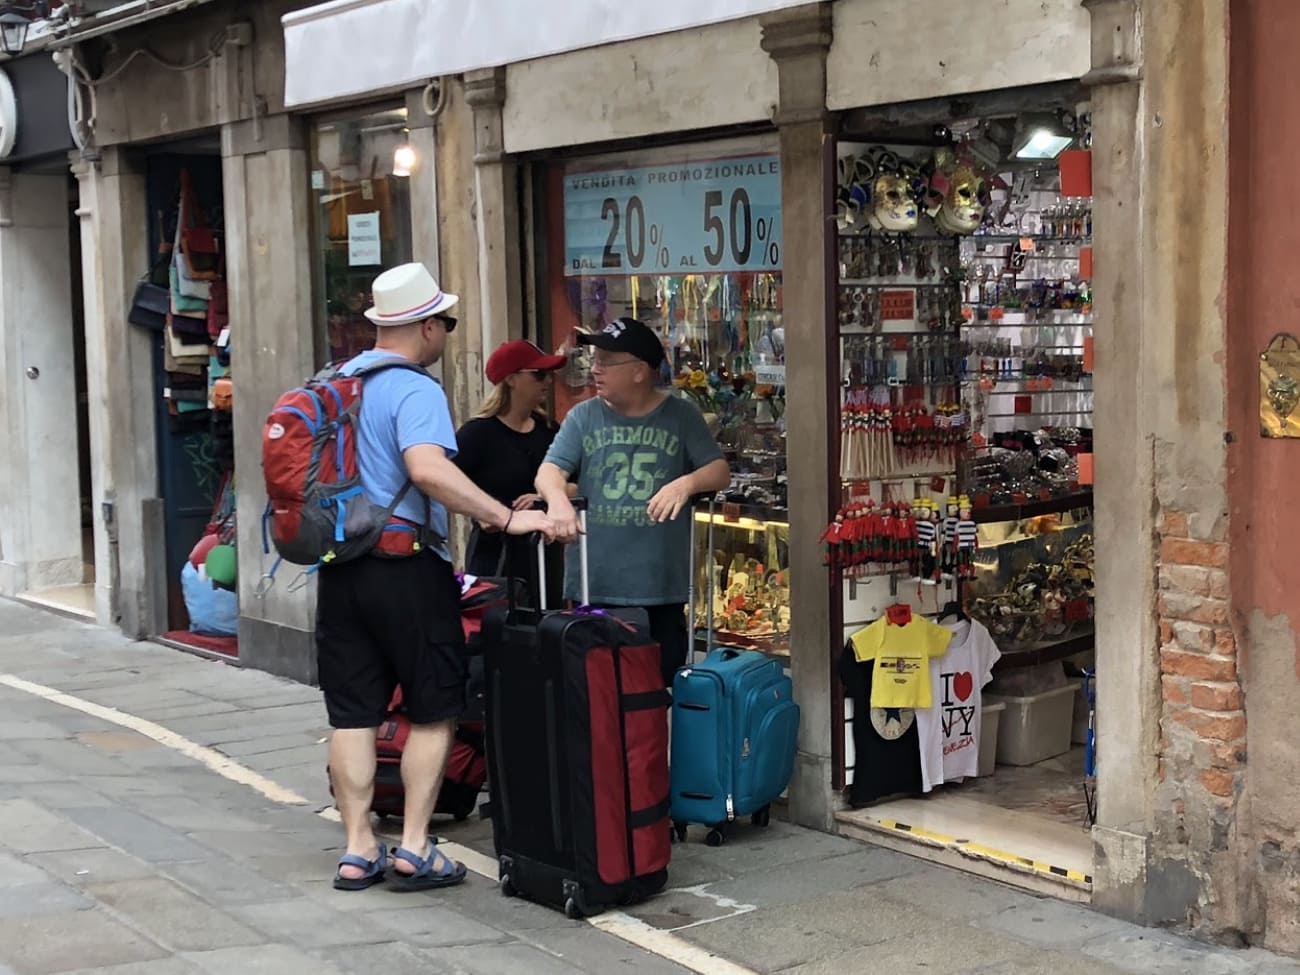
[[[0,169],[0,593],[83,577],[68,178]]]

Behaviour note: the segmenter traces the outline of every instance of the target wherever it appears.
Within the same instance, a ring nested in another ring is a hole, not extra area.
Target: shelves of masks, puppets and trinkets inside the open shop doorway
[[[838,155],[827,564],[890,593],[939,586],[919,602],[959,601],[1001,668],[1091,649],[1091,200],[1062,200],[1050,164],[1031,178],[945,147]]]

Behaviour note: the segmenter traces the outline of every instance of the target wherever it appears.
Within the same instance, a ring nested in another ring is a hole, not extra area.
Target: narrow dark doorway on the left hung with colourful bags
[[[165,644],[238,656],[233,377],[225,224],[216,136],[146,159],[151,281],[168,313],[155,328],[159,497],[166,550]]]

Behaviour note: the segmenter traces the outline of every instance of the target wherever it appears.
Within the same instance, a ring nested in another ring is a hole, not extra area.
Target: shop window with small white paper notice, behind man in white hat
[[[322,361],[374,343],[370,282],[410,261],[406,108],[330,118],[312,129],[316,320]]]

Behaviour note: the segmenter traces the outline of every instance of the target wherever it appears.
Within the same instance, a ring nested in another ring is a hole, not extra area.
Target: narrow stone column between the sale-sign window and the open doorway
[[[797,6],[763,18],[763,49],[776,61],[781,146],[781,235],[785,321],[786,460],[790,495],[790,672],[802,708],[790,781],[790,818],[818,829],[835,826],[832,789],[832,633],[828,576],[816,538],[833,511],[838,485],[829,471],[828,384],[838,356],[828,350],[826,159],[835,136],[826,110],[831,4]]]

